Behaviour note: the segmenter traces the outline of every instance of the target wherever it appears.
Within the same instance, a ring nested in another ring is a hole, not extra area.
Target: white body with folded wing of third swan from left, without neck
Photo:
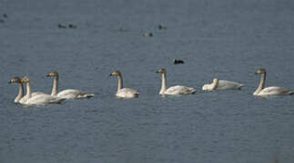
[[[90,98],[93,96],[94,94],[86,94],[83,91],[74,90],[74,89],[60,91],[57,94],[57,97],[64,98],[64,99],[81,99],[81,98]]]

